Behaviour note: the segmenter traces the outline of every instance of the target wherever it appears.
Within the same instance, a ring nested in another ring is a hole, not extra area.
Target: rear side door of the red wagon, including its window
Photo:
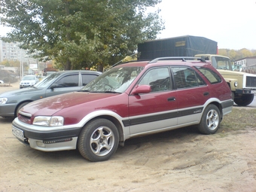
[[[210,98],[209,87],[203,78],[187,66],[172,67],[178,105],[178,125],[200,121],[203,105]]]

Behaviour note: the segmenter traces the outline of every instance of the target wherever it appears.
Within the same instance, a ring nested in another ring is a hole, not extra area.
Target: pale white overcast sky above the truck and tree
[[[166,28],[157,38],[193,35],[219,49],[256,50],[256,0],[162,0],[156,8]],[[0,35],[9,31],[0,26]]]

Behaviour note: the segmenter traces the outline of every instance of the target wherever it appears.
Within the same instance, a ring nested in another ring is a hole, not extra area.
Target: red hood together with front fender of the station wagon
[[[110,110],[121,117],[128,117],[128,96],[126,93],[84,93],[73,92],[38,100],[23,107],[23,112],[40,116],[65,117],[65,125],[78,123],[87,114],[97,110]],[[38,111],[40,108],[40,111]]]

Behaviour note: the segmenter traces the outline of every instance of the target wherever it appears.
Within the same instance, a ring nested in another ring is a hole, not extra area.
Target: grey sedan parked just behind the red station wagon
[[[17,112],[29,102],[80,90],[101,72],[63,71],[42,79],[32,87],[13,90],[0,95],[0,116],[17,117]]]

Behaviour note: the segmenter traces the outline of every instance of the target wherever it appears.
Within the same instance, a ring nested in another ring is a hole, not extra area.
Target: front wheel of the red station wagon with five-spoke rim
[[[119,134],[110,120],[96,119],[81,130],[78,137],[78,151],[87,160],[96,162],[108,160],[117,150]]]

